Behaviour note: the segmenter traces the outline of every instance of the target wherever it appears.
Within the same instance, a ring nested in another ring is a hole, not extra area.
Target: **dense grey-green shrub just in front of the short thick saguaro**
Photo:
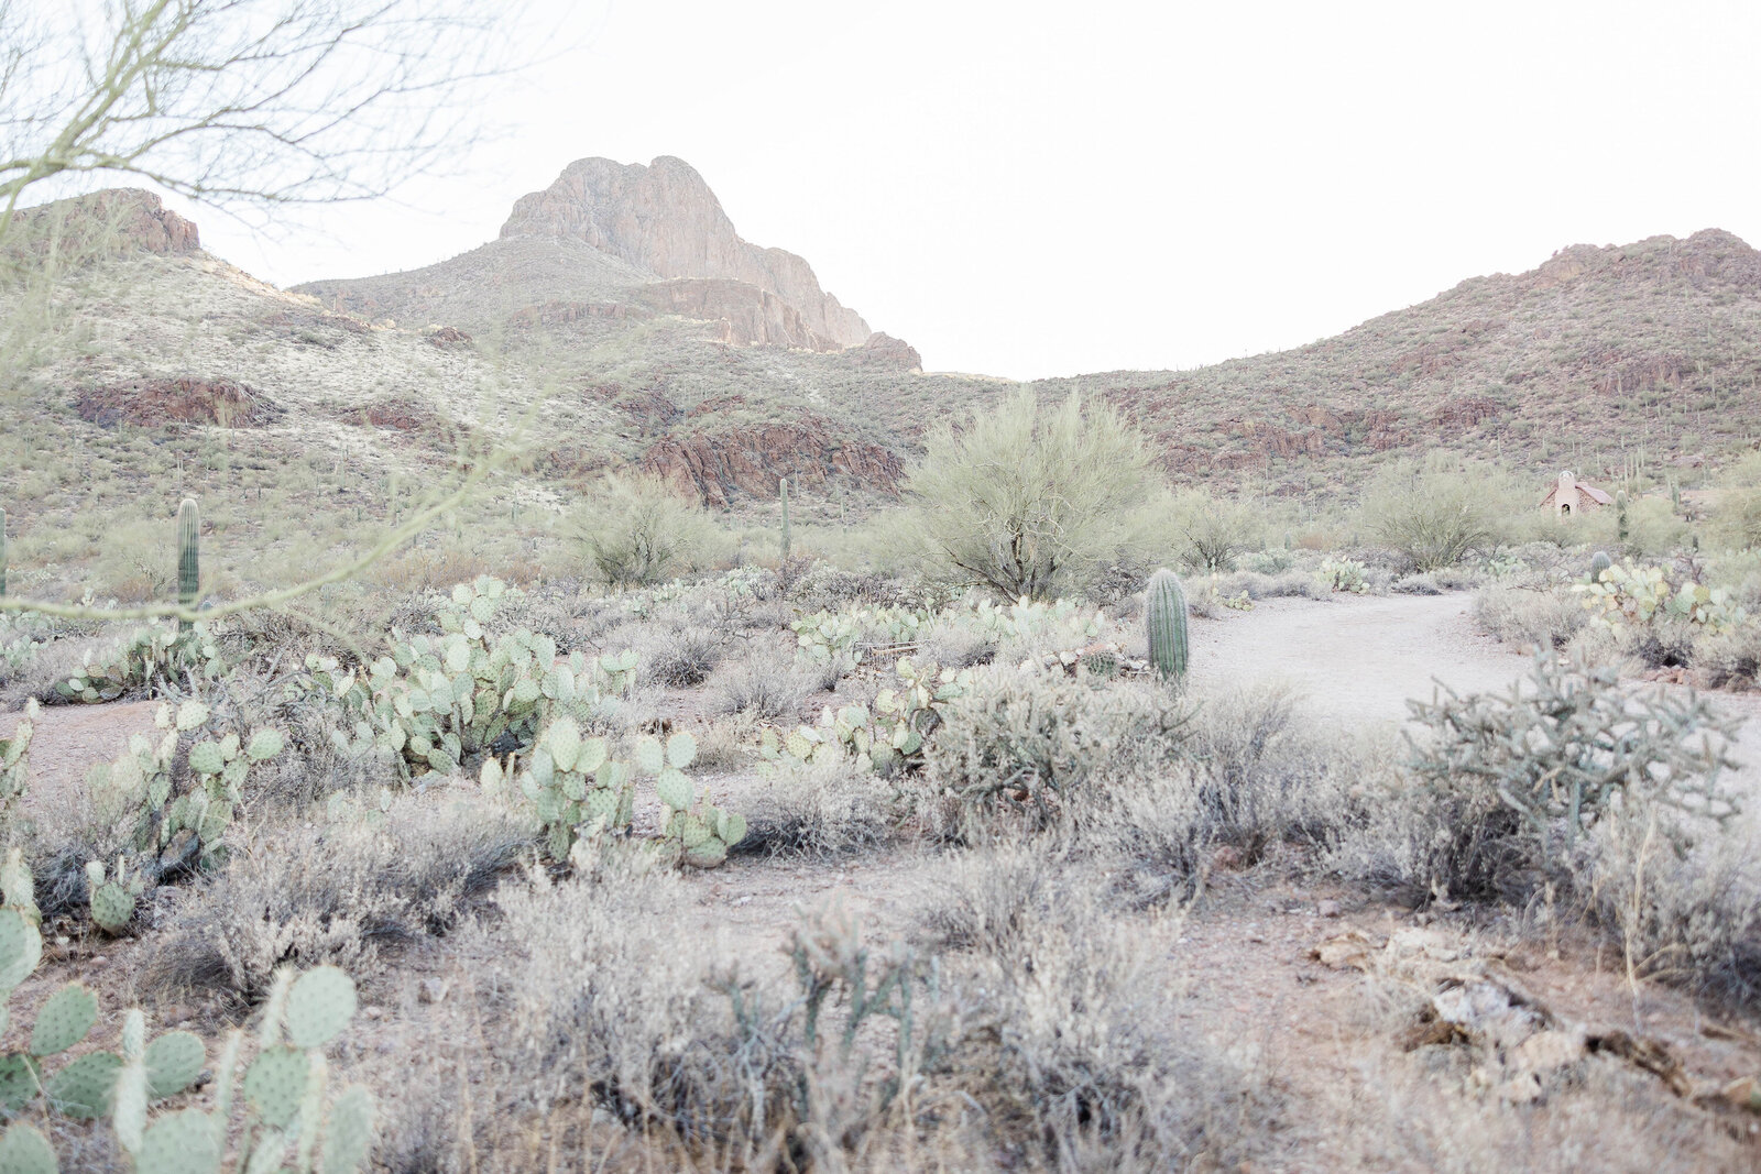
[[[1155,685],[991,669],[946,708],[926,755],[928,789],[953,803],[944,820],[974,811],[1044,825],[1090,781],[1166,764],[1189,718],[1190,708]]]

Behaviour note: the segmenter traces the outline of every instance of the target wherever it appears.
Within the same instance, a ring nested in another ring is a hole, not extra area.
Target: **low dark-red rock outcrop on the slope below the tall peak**
[[[664,477],[680,496],[715,507],[740,495],[773,498],[780,477],[805,489],[824,488],[838,477],[852,488],[891,496],[905,475],[891,451],[838,437],[815,415],[792,424],[664,437],[643,454],[641,465]]]

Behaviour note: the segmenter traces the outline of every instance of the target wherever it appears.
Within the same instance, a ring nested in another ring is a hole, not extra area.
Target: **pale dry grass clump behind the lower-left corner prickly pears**
[[[143,984],[248,1003],[282,963],[335,963],[359,977],[382,945],[446,933],[530,838],[470,792],[412,796],[382,818],[276,827],[183,894]]]

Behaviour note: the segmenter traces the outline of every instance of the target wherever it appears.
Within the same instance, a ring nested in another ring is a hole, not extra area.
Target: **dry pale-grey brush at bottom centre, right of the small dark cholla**
[[[1160,952],[1106,910],[1102,878],[1032,854],[998,845],[956,866],[926,917],[965,949],[946,966],[993,1024],[962,1040],[969,1095],[1048,1169],[1250,1165],[1275,1095],[1180,1014],[1153,979]]]

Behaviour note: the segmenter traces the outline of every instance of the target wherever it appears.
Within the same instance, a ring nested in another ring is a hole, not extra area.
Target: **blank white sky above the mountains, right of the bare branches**
[[[539,7],[544,4],[541,0]],[[574,158],[678,155],[930,370],[1301,345],[1555,248],[1761,245],[1761,2],[558,2],[398,202],[203,243],[291,285],[491,239]]]

